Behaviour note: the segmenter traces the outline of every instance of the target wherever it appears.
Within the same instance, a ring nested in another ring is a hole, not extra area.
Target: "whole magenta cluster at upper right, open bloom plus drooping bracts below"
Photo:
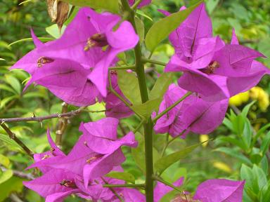
[[[180,9],[186,9],[184,6]],[[160,10],[164,15],[167,11]],[[162,116],[155,125],[157,133],[172,136],[188,131],[207,134],[219,126],[226,114],[229,98],[249,90],[270,70],[255,59],[262,53],[241,46],[233,29],[230,44],[212,36],[212,22],[200,4],[169,36],[175,54],[165,72],[183,72],[172,84],[160,105],[160,112],[183,97],[187,90],[195,94]]]

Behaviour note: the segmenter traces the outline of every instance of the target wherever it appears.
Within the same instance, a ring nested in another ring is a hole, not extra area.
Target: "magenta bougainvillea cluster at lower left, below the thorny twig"
[[[104,184],[124,184],[104,175],[110,171],[122,171],[124,162],[121,147],[136,147],[134,133],[130,132],[117,139],[118,120],[101,119],[96,122],[82,123],[79,130],[82,135],[68,155],[65,155],[47,133],[51,150],[34,154],[35,163],[30,168],[39,168],[43,175],[25,187],[37,191],[46,201],[61,201],[70,194],[82,198],[104,201],[115,200],[115,194]],[[129,197],[130,189],[117,189],[122,197]],[[131,190],[133,191],[133,190]],[[135,190],[136,191],[136,190]]]

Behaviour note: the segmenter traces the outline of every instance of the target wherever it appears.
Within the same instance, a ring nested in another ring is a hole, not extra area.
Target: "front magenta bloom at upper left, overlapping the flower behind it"
[[[49,58],[75,60],[91,71],[88,79],[96,85],[103,97],[107,94],[108,67],[118,53],[134,48],[139,42],[130,22],[111,13],[96,13],[81,8],[60,39],[43,46],[39,53]],[[103,47],[106,50],[103,51]]]

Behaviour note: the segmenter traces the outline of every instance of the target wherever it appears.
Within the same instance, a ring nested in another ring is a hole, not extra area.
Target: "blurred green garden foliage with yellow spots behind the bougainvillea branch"
[[[46,1],[32,0],[20,4],[22,2],[23,0],[0,1],[0,118],[44,116],[60,112],[62,109],[61,100],[58,100],[41,86],[31,86],[23,93],[25,83],[30,77],[26,72],[8,71],[8,67],[11,67],[14,62],[34,48],[31,39],[28,39],[31,27],[37,36],[44,37],[44,41],[60,36],[57,26],[53,25],[46,11]],[[144,33],[147,33],[153,22],[162,18],[162,15],[157,11],[158,9],[173,13],[179,11],[181,6],[191,6],[195,2],[188,0],[153,1],[151,6],[143,8],[137,13],[144,22],[146,29]],[[269,58],[261,61],[270,67],[270,1],[207,0],[206,5],[212,18],[215,35],[220,35],[221,39],[228,42],[231,40],[231,32],[234,27],[240,44],[255,48],[268,56]],[[77,8],[75,8],[74,13],[76,11]],[[65,25],[63,29],[65,29]],[[162,62],[169,60],[174,49],[167,42],[164,41],[160,44],[153,58]],[[145,48],[144,51],[146,55],[149,54]],[[133,60],[131,54],[129,54],[129,59]],[[164,67],[149,66],[146,68],[149,69],[147,78],[148,86],[151,88],[158,73],[161,73]],[[267,183],[269,181],[268,163],[270,157],[270,137],[267,133],[270,120],[269,81],[269,76],[264,76],[257,87],[232,97],[229,116],[214,133],[191,134],[185,141],[177,140],[174,142],[169,148],[169,152],[214,138],[209,143],[203,144],[203,147],[195,150],[188,158],[175,163],[162,177],[173,182],[178,177],[185,176],[187,179],[185,189],[191,192],[204,180],[219,177],[235,180],[245,179],[247,172],[261,172],[256,174],[256,179],[263,178]],[[73,109],[76,108],[69,106],[69,110]],[[103,103],[89,107],[89,110],[101,109],[104,109]],[[85,112],[72,119],[63,138],[64,151],[68,152],[77,141],[80,135],[77,128],[81,121],[95,121],[103,116],[103,113]],[[46,127],[49,126],[54,132],[57,124],[58,120],[53,119],[43,121],[43,123],[10,123],[8,126],[30,149],[39,153],[49,149],[45,134]],[[122,120],[120,134],[124,134],[129,128],[136,127],[137,124],[138,121],[133,118]],[[157,151],[162,150],[164,140],[165,135],[155,135],[155,149]],[[134,157],[129,151],[125,152],[127,153],[127,161],[124,163],[124,169],[132,173],[139,179],[138,181],[143,180],[141,171],[134,163]],[[0,129],[0,167],[3,168],[2,170],[11,170],[10,172],[1,172],[0,169],[0,201],[43,201],[33,191],[23,188],[22,177],[15,175],[17,171],[23,172],[31,163],[31,159],[23,153],[18,144],[10,140],[6,133]],[[251,171],[246,171],[248,169]],[[38,175],[35,170],[27,171],[27,173]],[[246,187],[244,201],[261,200],[262,196],[259,195],[259,191],[262,184],[257,185],[259,186],[258,190],[255,185],[252,187],[253,185],[247,185],[251,188]],[[80,200],[75,197],[67,199],[67,201]]]

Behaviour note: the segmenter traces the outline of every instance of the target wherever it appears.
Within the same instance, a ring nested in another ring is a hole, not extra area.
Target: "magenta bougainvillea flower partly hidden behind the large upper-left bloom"
[[[48,88],[51,93],[70,105],[87,106],[102,99],[98,88],[87,77],[91,72],[73,60],[52,59],[41,56],[39,48],[49,43],[41,43],[32,32],[36,49],[27,53],[11,69],[24,69],[32,75],[25,89],[32,83]],[[91,93],[89,93],[91,92]]]

